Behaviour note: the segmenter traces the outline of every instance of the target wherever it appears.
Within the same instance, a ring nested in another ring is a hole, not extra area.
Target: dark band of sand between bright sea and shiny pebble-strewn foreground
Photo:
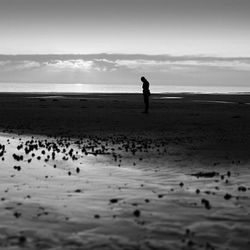
[[[141,113],[141,94],[0,97],[2,132],[152,141],[204,164],[224,160],[225,155],[232,161],[250,161],[250,95],[152,94],[147,115]]]

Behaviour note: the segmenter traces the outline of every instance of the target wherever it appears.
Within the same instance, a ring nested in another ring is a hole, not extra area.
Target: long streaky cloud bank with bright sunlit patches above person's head
[[[250,72],[250,58],[219,58],[168,55],[0,55],[0,71],[27,71],[45,68],[56,72]]]

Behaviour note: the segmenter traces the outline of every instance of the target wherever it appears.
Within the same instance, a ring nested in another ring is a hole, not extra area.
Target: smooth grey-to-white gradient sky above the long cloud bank
[[[0,0],[0,54],[250,56],[249,0]]]

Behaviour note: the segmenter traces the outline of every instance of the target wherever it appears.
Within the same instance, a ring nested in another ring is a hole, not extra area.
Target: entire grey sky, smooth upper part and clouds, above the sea
[[[0,83],[248,86],[249,24],[249,0],[0,0]]]

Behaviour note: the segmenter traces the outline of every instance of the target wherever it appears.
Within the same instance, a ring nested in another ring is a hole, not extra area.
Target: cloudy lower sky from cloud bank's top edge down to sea
[[[135,54],[0,55],[0,82],[248,86],[250,58]],[[1,88],[0,88],[1,89]]]

